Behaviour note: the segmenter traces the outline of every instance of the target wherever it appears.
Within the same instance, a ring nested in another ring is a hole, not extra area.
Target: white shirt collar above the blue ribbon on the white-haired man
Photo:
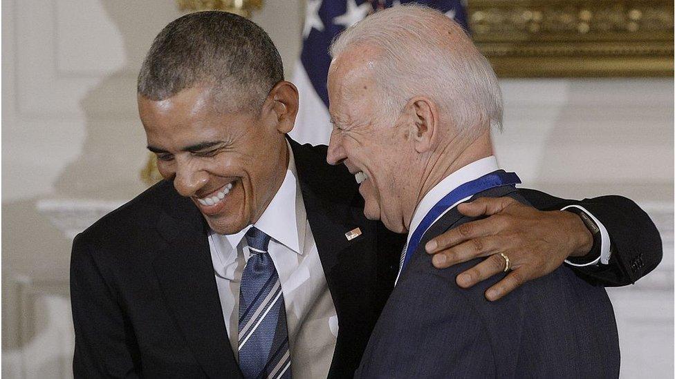
[[[422,201],[417,204],[415,208],[415,213],[413,213],[412,220],[410,221],[410,228],[408,232],[407,241],[410,242],[410,237],[415,231],[417,226],[422,222],[422,219],[432,210],[434,205],[441,201],[445,195],[450,193],[454,188],[461,186],[466,182],[470,182],[473,179],[478,179],[479,177],[492,173],[492,171],[499,170],[499,164],[497,164],[497,157],[490,155],[483,159],[479,159],[476,162],[471,162],[466,166],[460,168],[459,170],[447,175],[441,182],[438,182],[431,191],[427,192],[426,195],[422,198]],[[453,206],[454,207],[454,206]],[[451,207],[452,208],[452,207]],[[441,217],[439,215],[438,217]],[[438,219],[436,219],[438,220]],[[436,222],[434,220],[434,222]],[[433,224],[433,222],[432,222]]]

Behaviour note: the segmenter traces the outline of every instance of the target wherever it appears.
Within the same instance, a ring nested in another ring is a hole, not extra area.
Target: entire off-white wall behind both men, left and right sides
[[[64,378],[71,375],[70,240],[36,202],[93,200],[86,204],[103,209],[142,191],[138,172],[147,153],[136,74],[152,38],[180,13],[165,0],[2,6],[2,373]],[[277,43],[287,77],[302,8],[300,0],[266,1],[254,17]],[[670,236],[658,273],[612,296],[624,375],[672,376],[672,360],[645,363],[650,349],[673,355],[672,80],[520,79],[502,86],[506,117],[495,146],[503,166],[555,195],[629,195]]]

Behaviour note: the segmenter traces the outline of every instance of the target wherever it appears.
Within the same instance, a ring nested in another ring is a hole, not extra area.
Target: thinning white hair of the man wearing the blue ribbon
[[[376,12],[344,30],[331,45],[331,57],[359,45],[379,52],[373,79],[382,91],[383,112],[398,115],[412,97],[427,96],[460,132],[501,130],[497,77],[461,26],[445,14],[418,4]]]

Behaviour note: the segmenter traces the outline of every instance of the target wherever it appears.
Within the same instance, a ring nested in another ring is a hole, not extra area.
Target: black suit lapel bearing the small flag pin
[[[340,331],[329,378],[353,376],[379,309],[377,224],[363,215],[358,185],[344,166],[326,164],[325,146],[289,140],[307,219],[328,283]],[[347,240],[345,233],[361,235]]]

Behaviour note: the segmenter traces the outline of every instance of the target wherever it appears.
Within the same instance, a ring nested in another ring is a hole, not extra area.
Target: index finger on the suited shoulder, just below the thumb
[[[503,229],[503,219],[500,216],[490,216],[483,220],[476,220],[461,224],[441,235],[437,235],[425,245],[427,253],[434,254],[444,249],[450,249],[456,244],[472,240],[477,237],[494,235]]]

